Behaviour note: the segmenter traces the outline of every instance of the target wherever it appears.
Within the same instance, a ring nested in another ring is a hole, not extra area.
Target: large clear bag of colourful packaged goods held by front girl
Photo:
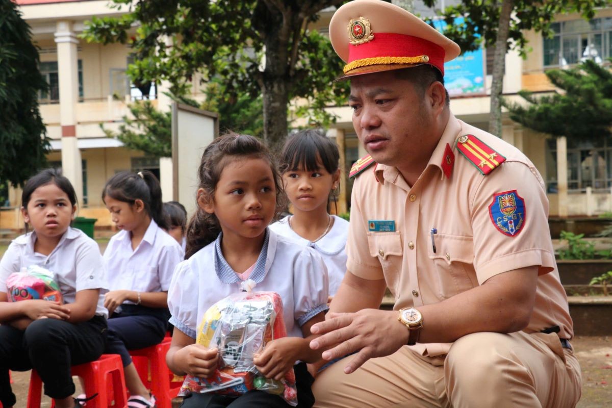
[[[252,280],[243,282],[243,292],[220,300],[204,313],[196,343],[217,348],[219,366],[209,378],[185,377],[179,395],[214,392],[239,396],[261,390],[282,397],[291,406],[297,405],[293,368],[277,381],[264,377],[253,364],[253,355],[269,341],[287,335],[280,295],[252,292],[253,287]]]

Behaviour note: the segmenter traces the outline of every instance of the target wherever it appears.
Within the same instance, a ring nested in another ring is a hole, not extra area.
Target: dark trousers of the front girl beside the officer
[[[296,372],[297,408],[311,408],[315,404],[312,394],[315,379],[308,373],[305,363],[294,366]],[[181,408],[288,408],[291,407],[283,398],[265,391],[252,390],[241,396],[225,396],[215,393],[196,394],[185,396]]]

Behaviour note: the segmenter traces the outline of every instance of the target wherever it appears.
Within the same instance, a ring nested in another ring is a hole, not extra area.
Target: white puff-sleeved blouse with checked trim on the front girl
[[[303,337],[300,327],[328,309],[325,264],[316,251],[266,231],[248,278],[257,283],[255,291],[280,295],[287,335]],[[222,234],[177,265],[168,291],[170,323],[193,339],[206,310],[240,291],[241,280],[223,258],[221,239]]]

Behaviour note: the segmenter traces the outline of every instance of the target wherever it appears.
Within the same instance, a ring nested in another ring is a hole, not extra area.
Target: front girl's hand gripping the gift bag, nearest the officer
[[[282,380],[287,371],[293,368],[298,360],[297,352],[300,351],[304,339],[299,337],[283,337],[272,340],[263,352],[255,355],[253,364],[266,378]]]

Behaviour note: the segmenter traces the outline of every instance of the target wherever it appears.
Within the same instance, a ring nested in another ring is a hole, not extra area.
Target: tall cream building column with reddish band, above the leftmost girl
[[[83,204],[83,166],[76,138],[75,109],[78,102],[78,63],[72,21],[58,21],[55,42],[58,47],[59,121],[62,127],[62,171]]]

